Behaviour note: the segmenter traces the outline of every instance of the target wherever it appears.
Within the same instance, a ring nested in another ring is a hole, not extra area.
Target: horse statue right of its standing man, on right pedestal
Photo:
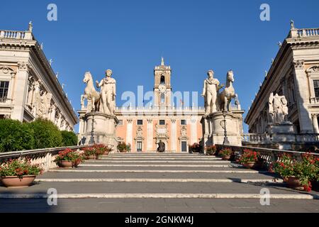
[[[220,111],[230,111],[230,102],[235,99],[237,102],[237,94],[233,87],[234,73],[233,70],[229,70],[226,76],[226,85],[223,92],[219,94]]]

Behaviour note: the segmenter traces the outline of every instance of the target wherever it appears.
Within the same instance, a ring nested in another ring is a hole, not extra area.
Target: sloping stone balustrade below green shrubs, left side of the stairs
[[[55,157],[57,153],[61,150],[65,150],[66,148],[70,148],[72,150],[79,150],[81,148],[85,148],[91,145],[82,145],[82,146],[71,146],[71,147],[61,147],[61,148],[45,148],[45,149],[37,149],[37,150],[23,150],[23,151],[13,151],[0,153],[0,163],[10,159],[16,158],[30,158],[31,164],[38,164],[43,167],[43,171],[47,172],[52,168],[57,167],[55,164]]]

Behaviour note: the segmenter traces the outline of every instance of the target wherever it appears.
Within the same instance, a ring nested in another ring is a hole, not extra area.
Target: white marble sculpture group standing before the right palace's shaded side
[[[269,118],[272,123],[284,123],[288,115],[287,100],[285,96],[274,95],[269,96]]]

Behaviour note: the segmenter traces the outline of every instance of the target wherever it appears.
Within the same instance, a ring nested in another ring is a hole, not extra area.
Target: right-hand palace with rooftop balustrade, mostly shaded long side
[[[291,30],[245,118],[250,133],[265,133],[271,93],[285,96],[288,120],[298,134],[319,133],[319,28]]]

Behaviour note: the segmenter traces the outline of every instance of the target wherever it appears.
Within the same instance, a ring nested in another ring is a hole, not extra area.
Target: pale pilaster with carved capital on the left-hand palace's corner
[[[18,73],[15,78],[15,87],[13,92],[14,109],[11,115],[12,119],[23,121],[24,106],[28,96],[28,62],[18,62]]]

